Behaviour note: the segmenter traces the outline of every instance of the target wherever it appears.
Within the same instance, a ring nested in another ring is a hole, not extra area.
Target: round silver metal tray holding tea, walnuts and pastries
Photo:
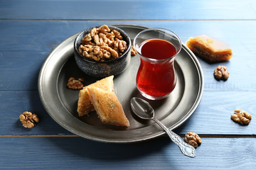
[[[124,30],[131,40],[144,26],[114,25]],[[143,98],[136,87],[139,56],[131,59],[129,67],[114,77],[114,91],[129,119],[129,128],[105,125],[97,118],[97,113],[78,117],[77,103],[79,91],[68,89],[70,77],[84,78],[85,86],[97,81],[80,71],[75,64],[73,44],[75,34],[64,40],[50,52],[41,67],[38,77],[38,91],[48,114],[63,128],[76,135],[100,142],[139,142],[159,137],[165,132],[151,120],[140,120],[132,113],[129,101],[132,97]],[[193,52],[182,45],[176,57],[177,83],[168,98],[149,101],[154,107],[156,118],[171,130],[182,125],[196,110],[203,94],[203,72]]]

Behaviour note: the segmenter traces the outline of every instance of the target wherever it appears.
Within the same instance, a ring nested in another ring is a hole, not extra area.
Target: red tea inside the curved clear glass
[[[170,94],[176,85],[174,45],[166,40],[150,39],[142,42],[139,48],[143,56],[137,73],[139,91],[156,98]]]

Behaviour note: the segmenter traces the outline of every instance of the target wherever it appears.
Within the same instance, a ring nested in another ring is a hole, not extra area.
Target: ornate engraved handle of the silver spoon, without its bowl
[[[176,145],[178,145],[179,149],[181,149],[181,152],[184,155],[186,155],[188,157],[196,157],[196,149],[194,147],[192,147],[191,145],[188,145],[186,142],[184,142],[179,135],[177,135],[175,132],[169,130],[169,128],[167,128],[163,123],[161,123],[156,118],[152,118],[152,120],[154,120],[157,124],[159,124],[161,126],[161,128],[163,128],[166,131],[167,135],[169,135],[171,140]]]

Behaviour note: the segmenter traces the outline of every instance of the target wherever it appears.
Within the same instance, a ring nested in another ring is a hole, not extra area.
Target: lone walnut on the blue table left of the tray
[[[39,122],[38,116],[28,111],[23,112],[19,118],[25,128],[33,128]]]

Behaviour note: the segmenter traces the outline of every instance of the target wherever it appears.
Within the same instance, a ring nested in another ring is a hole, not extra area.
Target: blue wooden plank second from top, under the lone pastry
[[[233,49],[233,58],[215,64],[199,59],[205,91],[256,91],[256,79],[252,79],[256,74],[255,21],[0,21],[0,72],[4,72],[0,90],[37,90],[38,73],[48,53],[80,30],[104,23],[167,28],[180,35],[182,42],[202,34],[222,40]],[[228,81],[214,79],[218,64],[228,67]]]

